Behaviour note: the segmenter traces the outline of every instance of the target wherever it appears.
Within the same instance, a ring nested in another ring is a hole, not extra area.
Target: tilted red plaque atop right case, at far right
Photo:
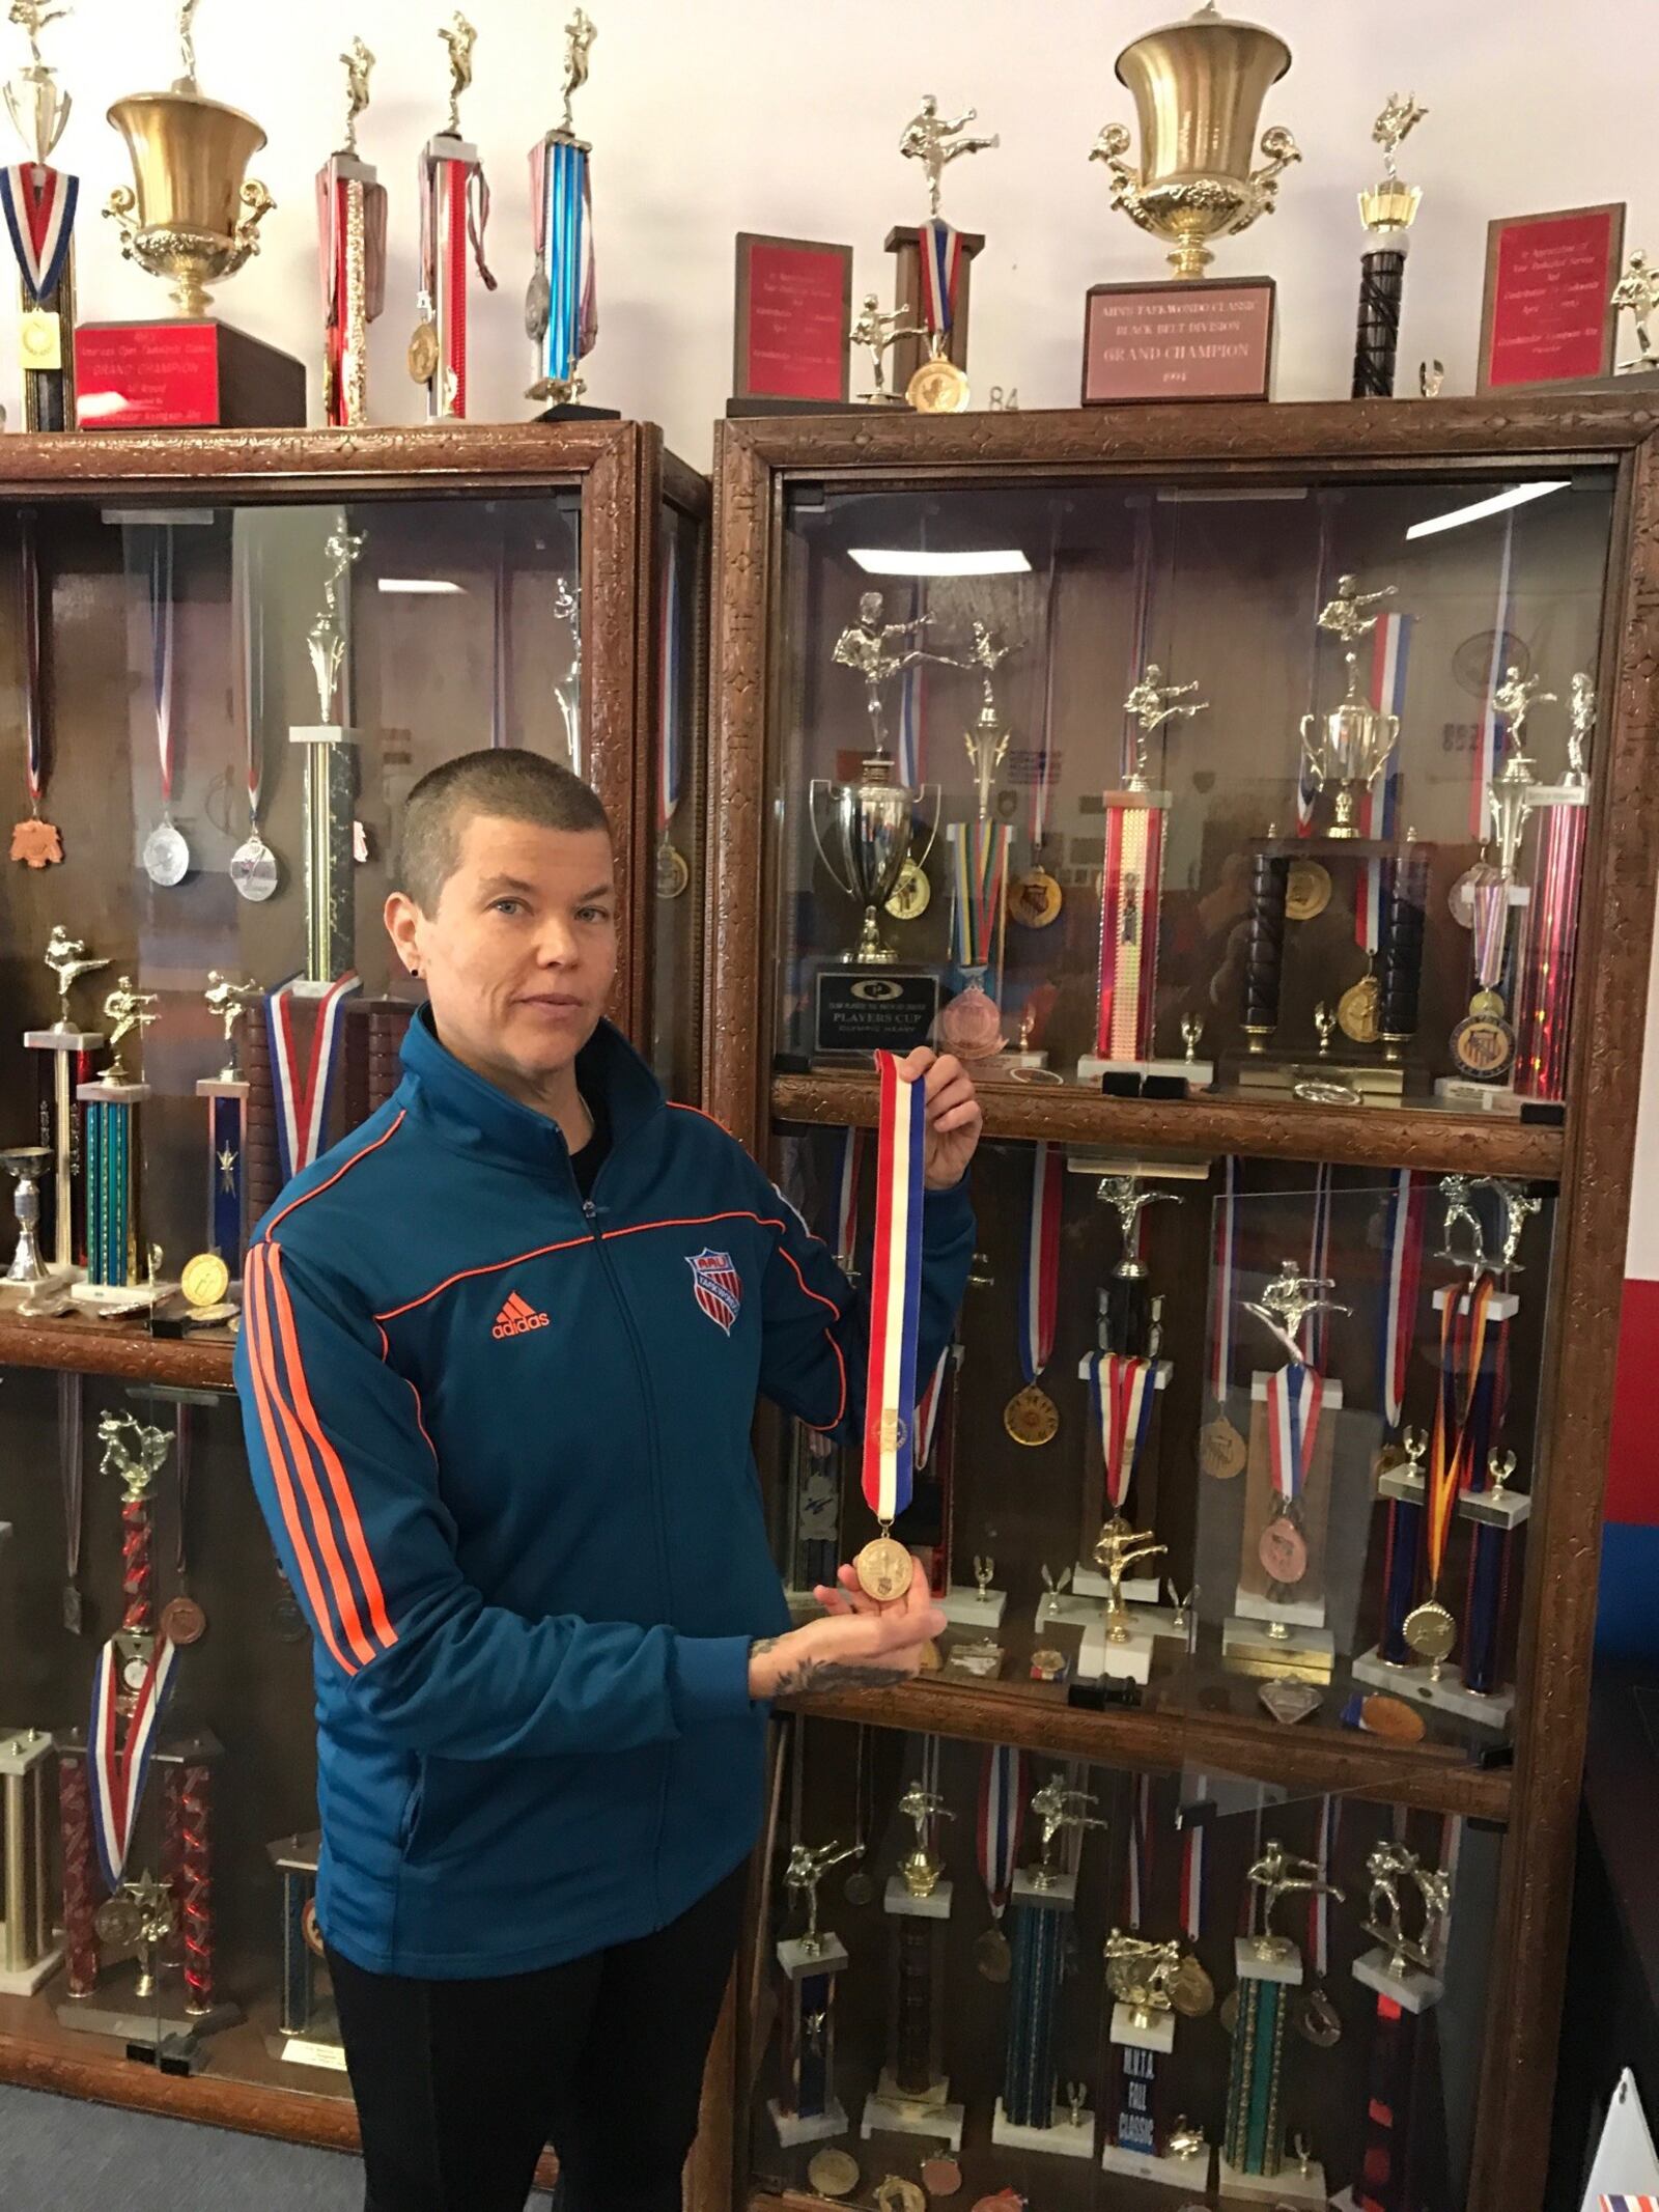
[[[1489,223],[1478,389],[1608,376],[1621,252],[1621,201]]]

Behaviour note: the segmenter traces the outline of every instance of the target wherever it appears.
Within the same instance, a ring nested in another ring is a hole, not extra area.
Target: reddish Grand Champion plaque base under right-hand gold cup
[[[1097,283],[1084,319],[1084,407],[1265,400],[1274,283]]]

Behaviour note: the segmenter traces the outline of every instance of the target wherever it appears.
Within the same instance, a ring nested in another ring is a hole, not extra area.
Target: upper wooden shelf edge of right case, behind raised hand
[[[1329,1159],[1354,1168],[1420,1168],[1425,1175],[1513,1175],[1559,1181],[1562,1130],[1413,1106],[1259,1104],[1239,1095],[1110,1099],[1064,1084],[980,1086],[987,1137],[1046,1139],[1170,1155],[1234,1152],[1254,1159]],[[776,1121],[876,1126],[874,1075],[774,1075]]]

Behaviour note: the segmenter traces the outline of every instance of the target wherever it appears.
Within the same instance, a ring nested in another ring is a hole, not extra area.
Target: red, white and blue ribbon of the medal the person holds
[[[865,1385],[865,1504],[889,1528],[909,1504],[916,1427],[916,1321],[922,1296],[922,1157],[927,1095],[876,1053],[880,1139]]]

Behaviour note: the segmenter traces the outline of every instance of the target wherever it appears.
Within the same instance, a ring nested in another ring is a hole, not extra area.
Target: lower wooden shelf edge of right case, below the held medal
[[[1093,1712],[1068,1705],[1064,1690],[1013,1683],[967,1690],[920,1679],[896,1690],[832,1690],[783,1703],[823,1719],[969,1743],[1013,1743],[1060,1759],[1152,1767],[1161,1774],[1201,1767],[1303,1792],[1338,1790],[1425,1812],[1509,1818],[1509,1770],[1478,1767],[1451,1743],[1400,1745],[1352,1730],[1301,1732],[1272,1721],[1133,1705]]]

